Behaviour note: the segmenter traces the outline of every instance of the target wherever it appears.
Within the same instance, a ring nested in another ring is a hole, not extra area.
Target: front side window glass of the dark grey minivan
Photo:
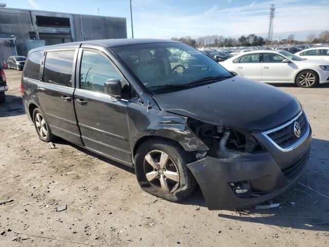
[[[84,50],[80,68],[81,89],[104,93],[104,82],[108,79],[119,79],[123,83],[122,76],[103,55]]]

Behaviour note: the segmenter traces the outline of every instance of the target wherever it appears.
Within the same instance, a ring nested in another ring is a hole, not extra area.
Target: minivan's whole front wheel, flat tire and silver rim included
[[[195,189],[196,181],[186,166],[193,161],[193,155],[175,142],[160,138],[147,140],[135,155],[137,181],[151,195],[179,202]]]

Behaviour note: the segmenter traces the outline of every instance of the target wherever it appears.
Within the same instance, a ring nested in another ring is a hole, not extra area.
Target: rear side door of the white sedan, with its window
[[[261,81],[260,54],[246,54],[242,56],[239,62],[234,64],[239,76],[243,76],[255,81]]]

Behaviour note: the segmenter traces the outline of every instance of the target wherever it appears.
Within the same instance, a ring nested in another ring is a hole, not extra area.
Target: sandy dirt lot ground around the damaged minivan
[[[5,73],[0,246],[329,246],[329,85],[279,86],[300,100],[313,128],[299,183],[323,195],[296,184],[273,199],[278,208],[209,211],[199,189],[180,204],[167,202],[143,192],[123,165],[64,140],[50,149],[22,108],[21,72]]]

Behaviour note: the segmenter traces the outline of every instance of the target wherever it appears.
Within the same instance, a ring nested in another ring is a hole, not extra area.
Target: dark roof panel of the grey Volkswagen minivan
[[[49,50],[49,49],[60,49],[60,48],[78,48],[81,44],[96,44],[103,45],[106,47],[116,47],[125,45],[138,45],[138,44],[152,44],[152,43],[180,43],[172,40],[160,40],[160,39],[107,39],[107,40],[88,40],[63,43],[57,45],[47,45],[34,48],[30,52],[37,50]]]

